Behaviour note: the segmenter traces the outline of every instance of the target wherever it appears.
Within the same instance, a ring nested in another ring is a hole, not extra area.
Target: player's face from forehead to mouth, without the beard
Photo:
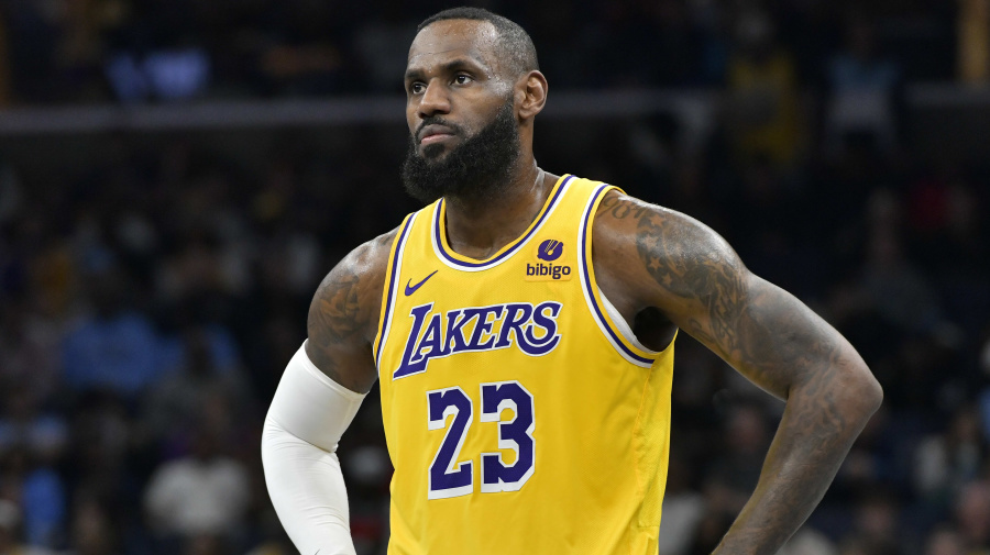
[[[415,154],[436,162],[488,125],[513,93],[487,22],[438,21],[416,35],[406,65],[406,122]]]

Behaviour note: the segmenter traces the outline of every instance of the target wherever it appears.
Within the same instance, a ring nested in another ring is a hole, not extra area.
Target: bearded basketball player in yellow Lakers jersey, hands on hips
[[[697,221],[538,167],[547,79],[515,23],[426,20],[405,86],[403,178],[429,206],[320,285],[265,424],[300,553],[354,553],[334,452],[375,379],[389,554],[657,553],[678,330],[787,401],[717,550],[776,553],[880,403],[856,351]]]

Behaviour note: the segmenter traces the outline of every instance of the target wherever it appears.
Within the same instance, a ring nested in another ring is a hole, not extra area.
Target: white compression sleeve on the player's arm
[[[362,400],[321,373],[302,347],[278,382],[262,433],[262,463],[275,512],[302,555],[354,555],[336,452]]]

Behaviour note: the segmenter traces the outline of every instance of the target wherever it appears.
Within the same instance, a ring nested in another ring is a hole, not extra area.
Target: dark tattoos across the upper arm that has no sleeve
[[[836,334],[799,300],[772,286],[747,285],[732,249],[704,227],[652,211],[640,217],[636,246],[649,275],[697,314],[686,332],[779,397],[800,374],[831,373]]]

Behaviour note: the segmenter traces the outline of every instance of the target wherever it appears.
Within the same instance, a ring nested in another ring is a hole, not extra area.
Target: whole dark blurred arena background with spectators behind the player
[[[480,4],[537,44],[542,167],[706,222],[883,385],[785,553],[990,553],[988,0]],[[261,423],[320,278],[418,208],[400,77],[447,7],[0,0],[0,554],[295,553]],[[782,403],[676,348],[661,553],[704,554]],[[375,395],[340,454],[382,554]]]

